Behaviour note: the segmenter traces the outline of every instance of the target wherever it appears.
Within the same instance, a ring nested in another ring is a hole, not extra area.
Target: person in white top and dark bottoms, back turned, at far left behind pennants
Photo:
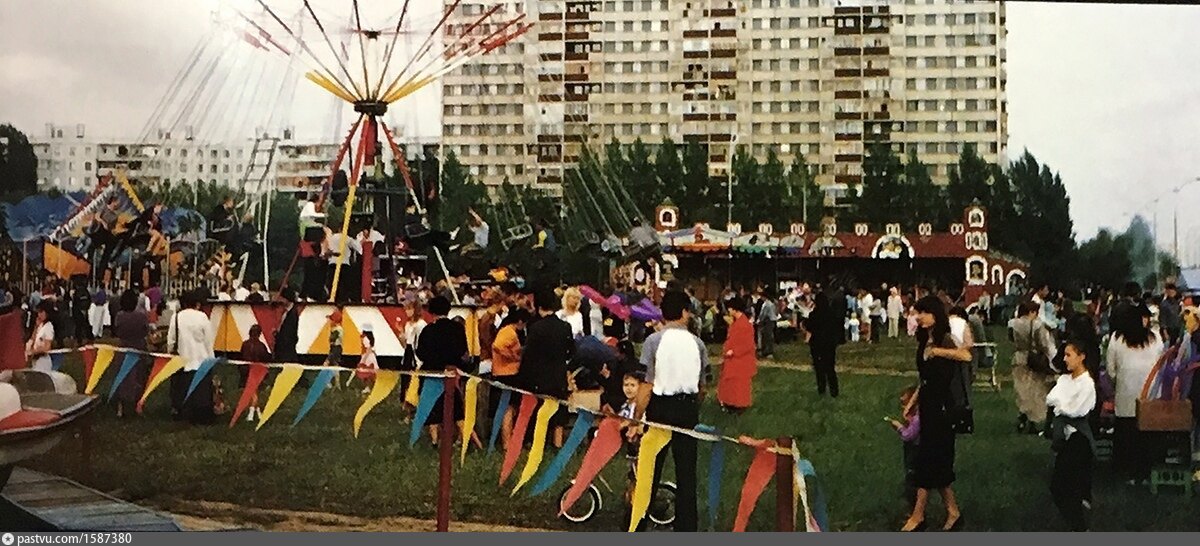
[[[175,313],[167,329],[167,352],[178,354],[184,360],[182,373],[172,376],[170,404],[176,418],[186,419],[193,425],[211,425],[215,419],[212,380],[200,382],[192,396],[187,396],[187,389],[196,377],[196,371],[200,368],[200,362],[215,356],[212,326],[209,316],[200,311],[202,301],[199,294],[184,294],[180,298],[181,311]]]

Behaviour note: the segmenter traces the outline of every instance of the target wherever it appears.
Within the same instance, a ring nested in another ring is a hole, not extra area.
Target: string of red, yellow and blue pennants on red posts
[[[92,394],[101,377],[113,367],[113,362],[120,361],[113,383],[109,388],[108,397],[112,398],[118,386],[126,380],[134,366],[144,359],[152,359],[151,371],[143,391],[138,410],[146,398],[167,379],[180,373],[184,361],[179,355],[132,350],[107,344],[84,346],[72,349],[55,349],[50,352],[54,370],[59,370],[67,354],[80,353],[84,364],[85,392]],[[124,355],[124,356],[122,356]],[[257,428],[262,428],[280,409],[283,401],[296,386],[300,377],[305,372],[317,372],[316,379],[308,388],[307,397],[301,406],[292,425],[295,426],[313,408],[317,400],[326,390],[331,382],[337,380],[340,373],[353,371],[338,366],[310,366],[301,364],[260,364],[244,360],[230,360],[224,358],[209,358],[200,362],[199,368],[192,376],[188,385],[187,397],[191,397],[197,388],[210,377],[217,366],[250,366],[247,382],[242,389],[238,406],[233,412],[229,426],[233,427],[241,414],[248,408],[253,394],[268,376],[268,371],[278,370],[271,386],[268,401],[262,412]],[[637,470],[635,476],[634,509],[630,521],[630,530],[634,530],[637,522],[642,520],[649,506],[652,482],[655,470],[655,460],[674,434],[684,434],[700,442],[713,445],[708,469],[708,520],[709,524],[716,521],[716,506],[720,499],[720,479],[712,479],[713,475],[721,475],[724,470],[725,445],[733,444],[745,449],[752,449],[755,455],[746,470],[745,484],[742,487],[738,512],[734,518],[733,530],[745,530],[750,514],[754,511],[757,499],[761,497],[770,481],[775,482],[775,530],[791,532],[797,528],[797,520],[803,517],[803,529],[809,532],[827,530],[828,515],[824,494],[817,480],[816,472],[808,460],[800,458],[799,449],[791,438],[760,439],[750,437],[722,436],[712,428],[698,426],[695,430],[680,428],[646,419],[624,419],[611,413],[592,410],[570,401],[558,400],[550,396],[538,395],[523,389],[512,388],[488,378],[466,373],[456,368],[445,372],[422,371],[396,371],[377,370],[374,383],[367,398],[355,413],[354,436],[358,437],[367,414],[384,401],[401,384],[401,377],[408,376],[408,389],[404,400],[416,407],[413,419],[414,426],[409,436],[409,445],[416,443],[421,433],[421,426],[416,425],[425,420],[437,409],[436,401],[442,398],[442,425],[438,438],[439,454],[439,480],[437,498],[437,530],[446,532],[450,524],[450,505],[454,491],[454,442],[455,442],[455,394],[463,390],[464,422],[463,431],[474,431],[479,408],[479,391],[481,385],[488,385],[500,394],[500,400],[491,424],[491,436],[488,438],[488,451],[494,449],[497,436],[500,430],[500,420],[509,409],[511,398],[520,396],[520,403],[512,434],[505,445],[504,463],[500,468],[500,484],[503,485],[510,473],[515,469],[516,462],[524,449],[526,432],[530,421],[534,422],[534,438],[529,448],[529,455],[524,468],[518,474],[518,481],[512,490],[515,494],[526,484],[530,482],[538,474],[545,450],[546,431],[550,419],[559,409],[566,408],[577,414],[575,425],[571,428],[563,448],[554,456],[553,461],[544,469],[534,482],[530,494],[546,492],[556,481],[563,476],[565,466],[576,450],[581,446],[586,437],[592,432],[593,425],[598,426],[598,433],[592,440],[583,457],[580,470],[575,475],[574,485],[569,490],[560,510],[565,511],[578,499],[599,474],[604,466],[611,461],[622,446],[622,422],[636,422],[646,427],[642,440],[642,449],[638,452]],[[463,385],[460,385],[464,383]],[[445,394],[446,396],[443,396]],[[466,434],[464,434],[466,436]],[[90,434],[85,430],[80,434],[84,445],[82,456],[90,457]],[[464,438],[460,458],[466,460],[470,442]],[[89,472],[89,463],[85,461],[84,472]]]

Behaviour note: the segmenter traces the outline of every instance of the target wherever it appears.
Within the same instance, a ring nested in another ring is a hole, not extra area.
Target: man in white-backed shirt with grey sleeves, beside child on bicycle
[[[700,422],[700,400],[708,373],[708,349],[688,331],[690,300],[682,292],[662,296],[662,330],[646,338],[642,364],[646,382],[652,386],[646,418],[680,428],[695,428]],[[696,438],[674,433],[667,449],[674,458],[676,521],[674,530],[696,530]],[[661,473],[666,449],[659,452],[655,473]],[[655,476],[658,482],[658,476]]]

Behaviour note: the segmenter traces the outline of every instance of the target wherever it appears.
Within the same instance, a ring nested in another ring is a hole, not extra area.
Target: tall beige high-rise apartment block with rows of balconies
[[[446,5],[452,2],[446,1]],[[494,2],[486,2],[494,5]],[[479,17],[463,0],[445,40]],[[1006,161],[1004,4],[991,0],[528,0],[536,25],[443,78],[443,144],[478,178],[557,185],[613,137],[736,145],[821,184],[862,180],[874,142],[944,181],[961,148]],[[486,25],[485,25],[486,26]],[[474,32],[487,34],[485,26]]]

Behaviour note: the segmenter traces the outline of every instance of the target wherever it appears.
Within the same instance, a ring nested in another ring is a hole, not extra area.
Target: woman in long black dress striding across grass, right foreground
[[[950,385],[962,362],[971,361],[971,349],[958,347],[954,342],[949,316],[941,300],[925,296],[917,301],[916,307],[920,325],[917,332],[917,371],[920,374],[917,407],[920,444],[914,462],[917,502],[901,530],[924,530],[930,490],[936,490],[946,504],[942,529],[956,530],[961,527],[962,514],[950,488],[954,484],[954,428],[949,415],[954,401]]]

